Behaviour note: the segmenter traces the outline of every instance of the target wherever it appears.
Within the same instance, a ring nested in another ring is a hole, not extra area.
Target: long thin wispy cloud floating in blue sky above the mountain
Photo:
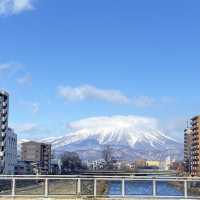
[[[141,108],[172,103],[172,98],[170,97],[161,97],[160,99],[154,99],[150,96],[130,97],[120,90],[100,89],[92,85],[81,85],[78,87],[59,86],[58,95],[63,97],[66,102],[78,102],[92,99],[108,103],[132,105]]]

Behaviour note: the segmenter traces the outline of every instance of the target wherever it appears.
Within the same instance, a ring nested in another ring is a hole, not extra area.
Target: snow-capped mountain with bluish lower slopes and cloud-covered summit
[[[104,145],[115,150],[115,157],[162,158],[179,157],[181,144],[165,135],[153,118],[113,116],[88,118],[69,124],[70,133],[58,138],[47,138],[57,153],[77,151],[82,158],[100,156]]]

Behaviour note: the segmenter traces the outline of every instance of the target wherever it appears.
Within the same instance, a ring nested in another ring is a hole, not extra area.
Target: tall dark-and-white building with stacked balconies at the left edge
[[[9,94],[0,90],[0,174],[5,168],[5,138],[8,129]]]

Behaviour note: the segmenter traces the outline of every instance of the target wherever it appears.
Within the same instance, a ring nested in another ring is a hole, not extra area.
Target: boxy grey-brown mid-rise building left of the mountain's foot
[[[39,142],[22,143],[23,161],[32,162],[34,174],[49,174],[51,171],[51,145]]]

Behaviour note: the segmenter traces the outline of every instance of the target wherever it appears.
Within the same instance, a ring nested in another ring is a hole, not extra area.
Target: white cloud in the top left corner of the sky
[[[15,15],[33,9],[33,0],[0,0],[0,15]]]

